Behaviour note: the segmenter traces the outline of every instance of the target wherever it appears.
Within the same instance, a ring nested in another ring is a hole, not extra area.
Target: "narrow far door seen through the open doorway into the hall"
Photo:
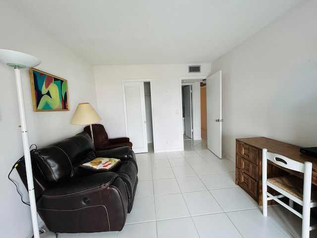
[[[185,135],[193,138],[192,85],[183,87]]]

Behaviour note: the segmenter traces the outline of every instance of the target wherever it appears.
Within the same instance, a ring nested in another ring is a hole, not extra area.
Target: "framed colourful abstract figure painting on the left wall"
[[[33,111],[69,111],[67,80],[30,68]]]

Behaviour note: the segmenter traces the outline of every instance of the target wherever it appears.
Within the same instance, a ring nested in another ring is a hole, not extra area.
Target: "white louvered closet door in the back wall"
[[[125,130],[135,153],[148,152],[144,82],[125,82]]]

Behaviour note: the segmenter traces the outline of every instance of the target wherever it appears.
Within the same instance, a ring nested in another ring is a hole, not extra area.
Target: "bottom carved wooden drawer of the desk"
[[[236,184],[242,187],[250,196],[259,202],[259,182],[236,168]]]

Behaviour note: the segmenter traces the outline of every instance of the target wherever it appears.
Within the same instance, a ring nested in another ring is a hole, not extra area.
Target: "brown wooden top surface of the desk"
[[[310,161],[313,163],[313,177],[317,178],[317,158],[301,153],[299,151],[299,146],[291,145],[277,140],[272,140],[266,137],[240,138],[237,140],[245,144],[257,147],[260,150],[266,148],[269,152],[284,155],[296,161]],[[317,181],[313,183],[317,184]]]

